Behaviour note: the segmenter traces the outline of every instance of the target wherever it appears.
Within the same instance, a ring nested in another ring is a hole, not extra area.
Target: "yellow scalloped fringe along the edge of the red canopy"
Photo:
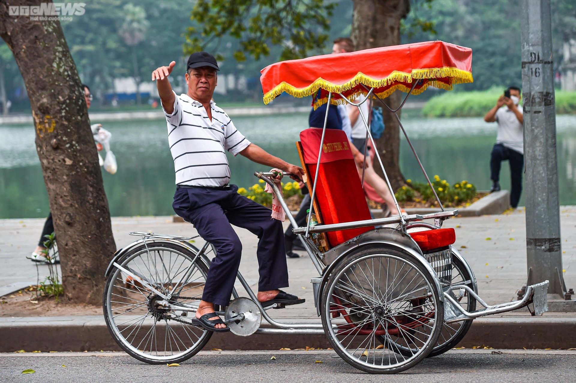
[[[467,82],[473,82],[474,79],[472,78],[472,73],[457,69],[454,67],[442,67],[442,68],[429,68],[429,69],[413,69],[412,73],[400,72],[400,71],[393,71],[388,77],[382,79],[376,79],[369,77],[362,72],[358,72],[354,76],[353,79],[346,82],[342,85],[332,84],[329,81],[319,77],[312,82],[312,84],[306,86],[306,88],[299,89],[295,88],[294,86],[288,84],[285,81],[282,81],[280,84],[276,85],[274,89],[270,90],[266,94],[264,94],[264,104],[270,103],[270,101],[274,100],[274,98],[278,97],[279,94],[282,92],[286,92],[294,97],[308,97],[312,96],[312,94],[316,93],[318,89],[324,89],[328,92],[332,93],[342,93],[346,90],[350,90],[357,86],[358,84],[364,84],[369,86],[370,88],[381,88],[382,86],[386,86],[392,84],[393,82],[400,81],[400,82],[412,82],[413,79],[435,79],[435,78],[442,78],[442,77],[451,77],[452,84],[448,85],[444,82],[440,81],[428,81],[422,88],[414,89],[414,94],[422,93],[428,86],[434,85],[438,88],[452,90],[453,84],[464,84]],[[388,97],[392,92],[395,90],[400,89],[404,92],[409,92],[410,88],[403,84],[397,84],[392,86],[389,89],[386,89],[385,92],[378,93],[378,97],[384,98]],[[358,94],[363,93],[366,94],[367,92],[359,92]],[[356,96],[358,96],[358,94]],[[335,104],[345,103],[345,100],[333,100]],[[317,101],[318,106],[327,103],[327,100],[319,100]],[[314,108],[317,108],[314,105]]]

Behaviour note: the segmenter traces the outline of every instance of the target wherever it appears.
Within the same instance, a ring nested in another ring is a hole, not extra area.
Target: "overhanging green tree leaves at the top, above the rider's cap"
[[[281,60],[306,57],[325,48],[335,5],[327,0],[198,0],[184,52],[212,50],[221,60],[219,43],[231,36],[239,43],[233,53],[237,61],[246,60],[246,54],[256,60],[268,56],[271,45],[282,46]]]

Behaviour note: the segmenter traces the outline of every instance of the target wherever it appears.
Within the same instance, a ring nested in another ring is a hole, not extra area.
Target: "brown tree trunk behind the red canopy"
[[[354,0],[352,16],[352,40],[357,50],[388,47],[400,44],[400,20],[410,12],[410,0]],[[384,101],[392,109],[400,105],[402,94],[394,92]],[[384,134],[376,140],[382,164],[392,184],[397,190],[405,183],[400,172],[400,128],[396,117],[378,100],[374,106],[382,107],[382,117],[386,128]],[[399,113],[400,114],[400,113]],[[382,175],[380,166],[374,166]]]

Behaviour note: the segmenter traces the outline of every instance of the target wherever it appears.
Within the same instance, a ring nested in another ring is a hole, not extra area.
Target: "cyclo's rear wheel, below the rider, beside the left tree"
[[[208,267],[198,249],[172,242],[147,242],[118,264],[170,296],[170,304],[198,307]],[[202,350],[213,332],[191,324],[194,312],[163,309],[163,298],[138,279],[113,268],[104,287],[103,308],[116,343],[139,361],[178,363]]]

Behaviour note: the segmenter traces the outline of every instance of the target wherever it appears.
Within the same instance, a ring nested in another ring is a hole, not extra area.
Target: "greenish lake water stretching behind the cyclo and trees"
[[[308,115],[236,117],[234,123],[249,140],[286,161],[298,164],[294,142]],[[93,121],[97,123],[97,121]],[[407,116],[404,126],[430,176],[450,183],[468,180],[478,189],[491,185],[488,162],[496,125],[480,118],[423,119]],[[164,120],[116,121],[103,126],[112,132],[111,147],[118,172],[103,170],[111,214],[173,214],[174,167]],[[557,116],[560,204],[576,204],[576,116]],[[0,218],[46,217],[48,196],[36,154],[34,129],[0,126]],[[247,158],[229,157],[232,183],[248,187],[255,170],[267,170]],[[400,166],[407,179],[424,181],[405,140]],[[501,184],[510,187],[510,172],[502,166]],[[522,198],[520,204],[524,203]]]

